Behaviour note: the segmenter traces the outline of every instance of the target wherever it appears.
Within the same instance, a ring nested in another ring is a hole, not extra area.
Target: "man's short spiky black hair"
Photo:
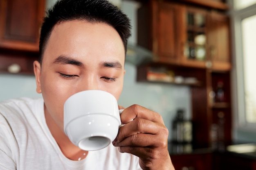
[[[130,20],[118,7],[108,0],[58,0],[47,11],[40,31],[39,57],[42,57],[52,29],[57,23],[70,20],[106,23],[118,32],[127,51],[127,41],[131,35]]]

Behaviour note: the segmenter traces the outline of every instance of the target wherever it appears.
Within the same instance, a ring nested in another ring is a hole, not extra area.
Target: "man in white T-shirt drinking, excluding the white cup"
[[[174,169],[162,117],[139,105],[124,109],[126,125],[102,150],[81,150],[64,133],[63,105],[71,95],[98,89],[118,100],[129,36],[127,16],[108,1],[56,2],[41,28],[40,62],[34,62],[43,100],[0,104],[0,169]]]

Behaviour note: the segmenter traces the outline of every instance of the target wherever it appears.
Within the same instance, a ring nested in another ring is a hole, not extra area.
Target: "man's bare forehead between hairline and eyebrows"
[[[59,55],[77,57],[85,54],[124,57],[124,44],[115,28],[108,24],[84,20],[65,21],[54,26],[43,60],[45,57],[54,59]]]

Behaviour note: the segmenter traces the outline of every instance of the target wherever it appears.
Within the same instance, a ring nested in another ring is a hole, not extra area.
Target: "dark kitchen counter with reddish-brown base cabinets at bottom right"
[[[256,144],[231,145],[223,152],[211,148],[185,149],[181,152],[173,147],[169,146],[169,153],[176,169],[256,170]]]

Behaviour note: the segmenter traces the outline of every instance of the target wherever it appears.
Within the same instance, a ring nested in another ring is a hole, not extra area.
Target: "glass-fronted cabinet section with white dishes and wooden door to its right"
[[[230,64],[229,17],[198,7],[181,8],[180,64],[228,71]]]

